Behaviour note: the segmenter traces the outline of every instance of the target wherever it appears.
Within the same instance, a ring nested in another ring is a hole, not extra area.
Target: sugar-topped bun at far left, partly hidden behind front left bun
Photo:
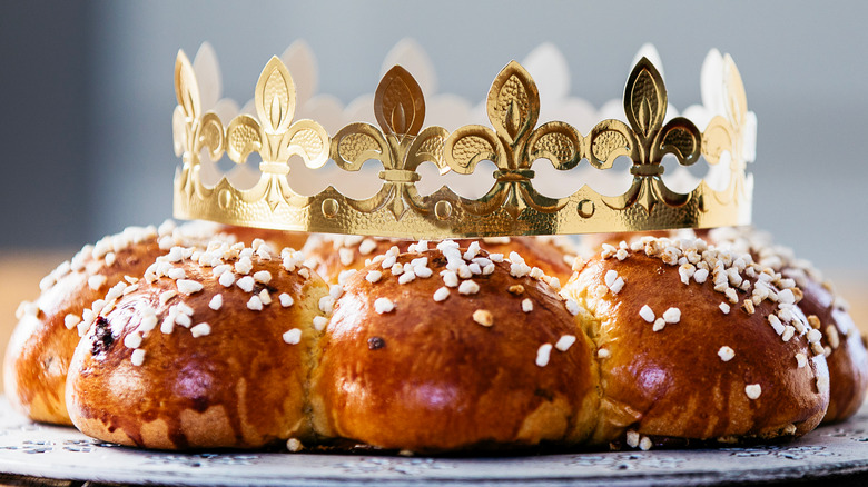
[[[93,321],[106,291],[126,276],[141,276],[175,245],[208,241],[216,226],[129,227],[85,246],[40,282],[41,295],[26,304],[6,351],[3,380],[12,406],[30,419],[71,425],[63,390],[80,335]],[[83,316],[83,318],[82,318]]]

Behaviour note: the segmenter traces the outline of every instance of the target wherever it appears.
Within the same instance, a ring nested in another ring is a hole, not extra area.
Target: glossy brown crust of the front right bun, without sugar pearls
[[[606,285],[610,271],[624,281],[617,294]],[[740,307],[749,294],[738,291],[732,304],[713,289],[713,277],[689,281],[682,282],[678,266],[631,251],[623,260],[591,258],[564,287],[596,319],[589,331],[600,350],[603,400],[594,443],[620,439],[625,430],[729,440],[813,429],[828,404],[822,355],[811,354],[798,332],[782,340],[767,318],[777,311],[770,300],[749,315]],[[728,314],[721,302],[731,307]],[[641,314],[645,306],[652,321],[678,308],[678,322],[663,321],[654,331]],[[734,352],[728,361],[723,347]],[[797,354],[807,359],[801,368]]]

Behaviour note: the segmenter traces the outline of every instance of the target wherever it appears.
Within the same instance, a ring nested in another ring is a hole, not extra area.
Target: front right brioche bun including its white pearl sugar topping
[[[801,292],[747,254],[644,237],[576,266],[563,294],[592,314],[602,401],[593,440],[644,447],[800,436],[829,375]]]

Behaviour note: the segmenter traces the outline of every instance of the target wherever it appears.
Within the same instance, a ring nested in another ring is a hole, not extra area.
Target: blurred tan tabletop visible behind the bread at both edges
[[[75,251],[4,251],[0,257],[0,350],[6,350],[16,325],[16,309],[22,300],[39,296],[39,280]],[[868,335],[868,272],[827,272],[850,302],[854,320]],[[2,375],[0,375],[2,386]]]

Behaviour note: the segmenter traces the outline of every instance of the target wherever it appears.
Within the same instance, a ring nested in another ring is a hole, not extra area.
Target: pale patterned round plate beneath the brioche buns
[[[868,402],[849,421],[786,445],[693,450],[427,458],[288,453],[177,454],[119,447],[33,424],[0,397],[0,471],[99,483],[172,485],[683,485],[868,475]]]

